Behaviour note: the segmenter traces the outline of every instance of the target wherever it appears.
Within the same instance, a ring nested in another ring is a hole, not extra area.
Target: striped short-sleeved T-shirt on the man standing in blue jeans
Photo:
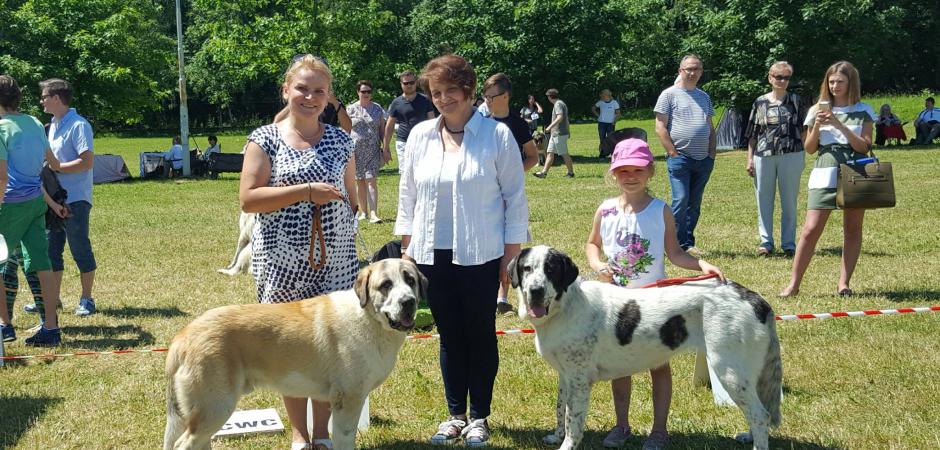
[[[705,91],[699,88],[687,91],[670,86],[659,94],[653,112],[666,115],[666,127],[676,151],[696,160],[708,157],[708,140],[715,111],[712,99]]]

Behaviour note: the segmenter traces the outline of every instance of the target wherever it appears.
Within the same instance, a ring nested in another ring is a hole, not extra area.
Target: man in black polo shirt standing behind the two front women
[[[423,94],[418,93],[418,77],[406,70],[398,77],[401,81],[402,94],[392,100],[388,107],[388,121],[385,123],[385,152],[391,154],[392,135],[395,136],[395,153],[398,155],[398,173],[401,173],[401,161],[405,156],[405,142],[411,129],[419,122],[434,118],[434,107]],[[398,124],[398,130],[395,130]],[[393,133],[394,132],[394,133]]]

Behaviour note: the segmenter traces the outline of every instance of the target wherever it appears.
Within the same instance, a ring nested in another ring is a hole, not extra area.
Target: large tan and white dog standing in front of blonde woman
[[[334,448],[354,448],[362,405],[391,373],[426,292],[414,263],[386,259],[348,291],[207,311],[167,354],[163,448],[209,448],[238,399],[262,386],[329,401]]]

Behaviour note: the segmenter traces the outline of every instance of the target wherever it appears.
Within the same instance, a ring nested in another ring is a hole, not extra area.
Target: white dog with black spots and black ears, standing
[[[509,273],[536,349],[558,371],[557,427],[546,443],[578,447],[594,383],[699,349],[744,413],[754,448],[768,448],[783,367],[774,313],[760,295],[715,280],[656,289],[584,281],[571,258],[546,246],[522,250]]]

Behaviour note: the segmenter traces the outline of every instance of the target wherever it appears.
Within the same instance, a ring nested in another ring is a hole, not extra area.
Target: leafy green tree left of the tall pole
[[[64,78],[73,106],[92,120],[134,124],[171,94],[173,40],[157,28],[148,0],[26,0],[0,10],[0,72],[24,89],[38,113],[37,83]],[[7,50],[8,49],[8,50]]]

